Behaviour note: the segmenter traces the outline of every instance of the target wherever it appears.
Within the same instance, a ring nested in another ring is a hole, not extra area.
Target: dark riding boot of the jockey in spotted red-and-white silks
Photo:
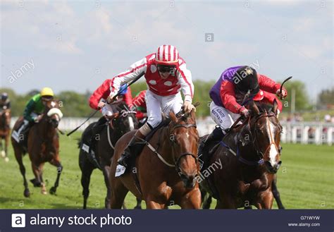
[[[142,135],[139,130],[133,135],[132,139],[130,140],[128,147],[124,149],[123,154],[118,159],[118,164],[127,167],[128,166],[128,160],[131,157],[136,157],[137,153],[142,150],[142,147],[144,147],[145,143],[142,141],[144,140],[145,135]]]

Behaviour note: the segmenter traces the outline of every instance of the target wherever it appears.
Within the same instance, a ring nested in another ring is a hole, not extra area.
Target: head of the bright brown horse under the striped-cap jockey
[[[171,142],[172,159],[185,188],[193,188],[197,180],[197,149],[199,144],[195,113],[192,111],[175,116],[171,112],[169,116],[171,123],[168,125],[168,135]]]

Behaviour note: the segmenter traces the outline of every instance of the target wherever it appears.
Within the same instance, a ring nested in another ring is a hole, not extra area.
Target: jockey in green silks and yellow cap
[[[16,137],[17,135],[19,138],[20,134],[27,135],[29,129],[42,119],[44,106],[52,99],[54,99],[54,91],[49,87],[44,87],[39,94],[35,94],[25,106],[25,111],[23,112],[23,124],[12,136]],[[16,139],[15,137],[13,138]],[[17,140],[17,142],[20,141]]]

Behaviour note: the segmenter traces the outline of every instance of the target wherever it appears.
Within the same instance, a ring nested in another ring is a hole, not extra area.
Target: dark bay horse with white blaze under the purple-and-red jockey
[[[217,199],[216,209],[273,204],[272,183],[281,164],[277,104],[266,111],[251,102],[249,109],[252,115],[225,135],[206,165],[211,171],[201,185]],[[221,168],[212,169],[217,163]]]

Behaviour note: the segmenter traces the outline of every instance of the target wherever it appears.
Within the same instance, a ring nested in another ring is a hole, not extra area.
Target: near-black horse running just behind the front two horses
[[[138,121],[135,117],[135,112],[130,111],[125,102],[114,102],[111,104],[116,114],[111,116],[107,125],[101,130],[97,135],[93,135],[94,125],[96,123],[91,123],[82,133],[82,138],[80,140],[80,153],[79,153],[79,166],[81,169],[81,185],[82,185],[82,196],[83,209],[87,208],[87,199],[89,196],[89,182],[92,171],[99,168],[104,175],[104,182],[106,184],[106,199],[105,207],[109,208],[110,203],[110,187],[109,187],[109,168],[111,164],[111,157],[113,157],[114,146],[117,140],[128,133],[130,130],[135,130],[138,128]],[[89,140],[92,136],[96,136],[96,145],[94,149],[94,154],[96,159],[92,160],[89,157]]]

